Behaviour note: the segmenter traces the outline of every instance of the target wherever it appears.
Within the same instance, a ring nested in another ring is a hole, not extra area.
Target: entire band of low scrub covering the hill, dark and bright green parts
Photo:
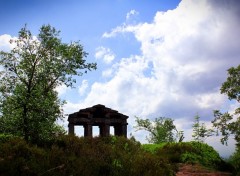
[[[198,142],[141,145],[134,138],[65,135],[34,145],[19,137],[0,137],[2,175],[171,176],[178,163],[231,170],[212,147]]]

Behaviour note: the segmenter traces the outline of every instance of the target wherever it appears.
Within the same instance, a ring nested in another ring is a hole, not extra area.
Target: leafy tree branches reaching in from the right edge
[[[240,102],[240,65],[236,68],[228,69],[228,78],[222,84],[221,93],[226,94],[229,100]],[[227,145],[230,135],[234,135],[237,147],[240,148],[240,107],[235,109],[234,113],[222,113],[219,110],[214,111],[215,119],[212,121],[213,126],[222,134],[221,142]]]

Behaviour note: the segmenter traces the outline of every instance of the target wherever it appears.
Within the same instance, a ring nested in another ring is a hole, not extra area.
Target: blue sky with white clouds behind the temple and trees
[[[219,91],[240,63],[239,19],[238,0],[0,0],[0,50],[25,24],[34,35],[50,24],[98,67],[75,89],[57,88],[65,114],[103,104],[128,115],[128,136],[142,143],[148,134],[135,131],[135,116],[169,117],[189,141],[195,115],[210,127],[213,110],[239,106]],[[67,129],[67,116],[60,123]],[[234,151],[234,140],[206,142],[223,157]]]

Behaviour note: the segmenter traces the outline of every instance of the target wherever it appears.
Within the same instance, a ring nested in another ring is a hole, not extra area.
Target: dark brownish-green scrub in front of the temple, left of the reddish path
[[[0,143],[3,175],[174,175],[172,165],[124,137],[60,136],[42,147],[15,138]]]

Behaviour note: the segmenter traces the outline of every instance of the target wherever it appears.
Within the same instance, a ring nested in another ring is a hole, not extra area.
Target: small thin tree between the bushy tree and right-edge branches
[[[196,115],[194,119],[195,122],[192,126],[193,127],[192,137],[194,138],[195,141],[203,143],[207,137],[213,135],[213,130],[207,129],[204,123],[200,124],[199,115]]]

